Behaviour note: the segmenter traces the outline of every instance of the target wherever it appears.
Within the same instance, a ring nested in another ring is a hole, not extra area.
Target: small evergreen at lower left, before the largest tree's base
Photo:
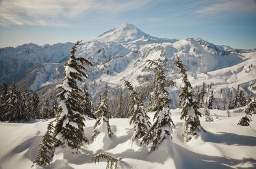
[[[34,164],[38,164],[41,167],[45,167],[50,164],[51,157],[53,156],[54,145],[57,141],[53,136],[53,130],[53,121],[51,121],[47,126],[47,132],[42,137],[42,142],[39,144],[39,153],[34,159],[33,165],[31,167],[33,167]]]

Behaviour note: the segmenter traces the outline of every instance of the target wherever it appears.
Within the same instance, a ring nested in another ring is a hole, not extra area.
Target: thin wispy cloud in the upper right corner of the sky
[[[256,12],[256,3],[254,0],[222,0],[212,1],[211,4],[196,10],[196,14],[215,15],[220,12],[226,13],[246,13]]]

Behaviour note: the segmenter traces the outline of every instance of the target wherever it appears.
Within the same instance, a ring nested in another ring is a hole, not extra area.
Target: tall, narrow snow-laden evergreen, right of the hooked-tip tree
[[[181,94],[179,99],[181,102],[181,119],[185,120],[184,128],[182,135],[185,137],[185,141],[188,142],[191,139],[191,136],[194,136],[197,131],[204,131],[203,127],[200,125],[199,117],[201,113],[199,112],[199,106],[196,100],[194,99],[194,94],[192,92],[192,87],[188,81],[188,76],[185,73],[185,69],[179,57],[175,61],[174,65],[179,67],[179,74],[183,74],[183,87],[181,87]]]

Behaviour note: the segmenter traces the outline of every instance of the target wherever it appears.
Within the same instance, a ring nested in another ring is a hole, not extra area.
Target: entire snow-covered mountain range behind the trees
[[[19,86],[29,87],[31,91],[54,90],[53,84],[62,79],[62,67],[72,46],[71,43],[53,46],[25,44],[16,48],[1,48],[0,69],[3,71],[0,83],[14,78],[19,80]],[[90,85],[94,101],[105,83],[112,89],[124,88],[122,78],[136,87],[149,84],[153,70],[146,68],[146,60],[152,59],[162,63],[167,78],[175,81],[168,91],[174,101],[173,108],[177,107],[181,76],[177,67],[173,66],[175,57],[183,61],[194,87],[201,86],[203,82],[214,83],[212,89],[216,95],[220,89],[229,95],[231,88],[236,89],[238,84],[242,84],[246,94],[255,93],[256,51],[214,45],[201,38],[163,39],[125,24],[84,42],[77,48],[77,55],[93,64],[87,67],[89,78],[86,82]]]

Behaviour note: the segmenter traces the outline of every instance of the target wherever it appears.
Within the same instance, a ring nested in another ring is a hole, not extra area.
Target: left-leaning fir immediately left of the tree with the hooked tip
[[[140,95],[134,91],[131,82],[125,80],[125,87],[130,92],[129,95],[129,108],[128,117],[131,118],[130,125],[133,125],[133,136],[131,136],[131,142],[142,138],[149,131],[151,123],[149,122],[149,116],[144,112],[144,102],[140,98]]]

